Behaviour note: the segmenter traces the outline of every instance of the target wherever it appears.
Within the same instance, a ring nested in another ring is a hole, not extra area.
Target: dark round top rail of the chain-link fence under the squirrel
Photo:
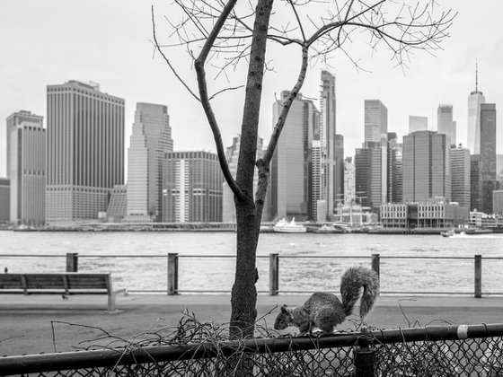
[[[76,351],[45,355],[0,357],[3,375],[57,372],[92,367],[113,367],[128,364],[161,363],[246,353],[278,353],[368,344],[391,344],[416,341],[441,341],[467,338],[503,337],[503,324],[427,326],[411,329],[364,330],[334,334],[329,337],[253,338],[180,346],[146,346],[126,352],[124,349]]]

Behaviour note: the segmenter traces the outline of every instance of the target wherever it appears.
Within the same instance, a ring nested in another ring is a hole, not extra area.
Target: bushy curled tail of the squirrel
[[[369,268],[350,267],[340,279],[340,295],[346,316],[353,312],[353,306],[360,296],[362,287],[360,317],[363,319],[372,309],[379,294],[379,276]]]

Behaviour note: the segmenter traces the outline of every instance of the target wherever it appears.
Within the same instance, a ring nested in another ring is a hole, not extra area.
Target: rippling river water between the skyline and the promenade
[[[78,253],[80,272],[111,272],[114,288],[131,292],[166,292],[167,253],[180,256],[182,293],[230,291],[234,282],[234,232],[0,232],[0,273],[4,267],[12,273],[64,272],[68,252]],[[257,252],[261,292],[269,289],[269,253],[279,254],[279,290],[285,293],[338,293],[342,272],[370,267],[372,254],[381,256],[384,293],[471,294],[475,254],[482,256],[483,293],[503,293],[503,234],[263,233]],[[27,254],[37,257],[22,257]]]

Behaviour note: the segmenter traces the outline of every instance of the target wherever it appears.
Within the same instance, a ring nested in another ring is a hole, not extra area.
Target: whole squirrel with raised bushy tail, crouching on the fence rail
[[[302,305],[293,308],[283,305],[274,322],[274,329],[295,326],[299,328],[300,335],[305,335],[318,328],[325,334],[331,334],[334,327],[353,312],[362,287],[360,317],[363,319],[379,294],[379,276],[369,268],[350,267],[340,279],[342,302],[335,294],[316,292]]]

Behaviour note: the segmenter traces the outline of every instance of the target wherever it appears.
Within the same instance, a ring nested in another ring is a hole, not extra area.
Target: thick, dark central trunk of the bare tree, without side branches
[[[256,267],[261,206],[253,201],[253,175],[257,154],[260,116],[260,96],[266,55],[269,16],[273,0],[259,0],[255,13],[250,65],[244,98],[241,145],[236,183],[246,199],[234,197],[236,208],[236,268],[231,296],[231,335],[252,338],[257,318],[257,289],[259,276]]]

